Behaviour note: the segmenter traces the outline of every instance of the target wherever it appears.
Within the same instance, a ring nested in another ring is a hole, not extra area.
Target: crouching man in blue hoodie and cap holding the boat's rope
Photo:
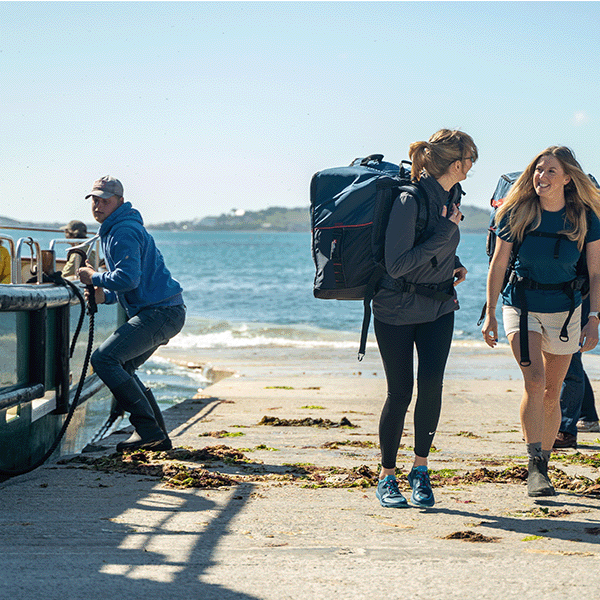
[[[130,413],[135,428],[127,441],[117,444],[117,451],[169,450],[171,440],[160,408],[135,371],[181,331],[185,322],[182,288],[171,277],[142,216],[125,202],[118,179],[108,175],[98,179],[86,198],[92,199],[92,213],[100,223],[107,271],[94,271],[86,263],[78,270],[79,279],[94,286],[98,304],[119,302],[128,317],[91,358],[98,377]]]

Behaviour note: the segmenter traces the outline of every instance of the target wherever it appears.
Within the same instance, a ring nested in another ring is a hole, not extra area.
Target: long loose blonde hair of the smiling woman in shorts
[[[577,248],[581,252],[588,232],[588,209],[600,217],[600,190],[584,173],[575,159],[575,154],[565,146],[550,146],[527,165],[498,209],[496,223],[508,216],[508,227],[517,242],[523,241],[528,229],[539,227],[542,222],[542,208],[533,187],[533,173],[544,156],[554,156],[571,179],[565,185],[566,219],[570,228],[558,233],[563,233],[570,240],[577,242]]]

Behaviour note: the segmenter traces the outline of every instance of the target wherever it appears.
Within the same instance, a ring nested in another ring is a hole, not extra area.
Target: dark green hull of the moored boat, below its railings
[[[112,394],[89,366],[82,373],[89,316],[70,356],[81,311],[70,287],[0,285],[0,476],[2,471],[29,468],[53,446],[82,376],[77,409],[50,460],[81,451],[110,414]],[[93,346],[122,320],[117,305],[99,307],[91,332]]]

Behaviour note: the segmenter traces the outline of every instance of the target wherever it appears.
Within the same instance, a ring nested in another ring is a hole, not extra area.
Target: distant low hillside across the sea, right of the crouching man
[[[465,219],[461,230],[484,232],[488,228],[490,211],[476,206],[462,207]],[[171,221],[149,225],[149,229],[168,231],[310,231],[309,208],[272,207],[260,211],[232,210],[218,217],[192,221]]]

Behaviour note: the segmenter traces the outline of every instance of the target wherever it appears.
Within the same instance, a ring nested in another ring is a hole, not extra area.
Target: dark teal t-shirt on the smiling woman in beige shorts
[[[510,230],[505,218],[498,227],[498,236],[512,242]],[[542,222],[536,231],[558,233],[568,229],[566,210],[557,212],[542,211]],[[600,239],[600,220],[591,212],[586,243]],[[528,277],[538,283],[563,283],[572,281],[576,276],[576,266],[580,252],[577,243],[561,238],[558,246],[558,258],[555,258],[556,238],[526,235],[515,262],[515,271],[520,277]],[[584,249],[585,252],[585,249]],[[527,308],[533,312],[554,313],[569,310],[571,301],[561,290],[525,290]],[[502,292],[502,302],[521,308],[518,294],[510,283]],[[575,292],[575,306],[581,304],[581,294]]]

